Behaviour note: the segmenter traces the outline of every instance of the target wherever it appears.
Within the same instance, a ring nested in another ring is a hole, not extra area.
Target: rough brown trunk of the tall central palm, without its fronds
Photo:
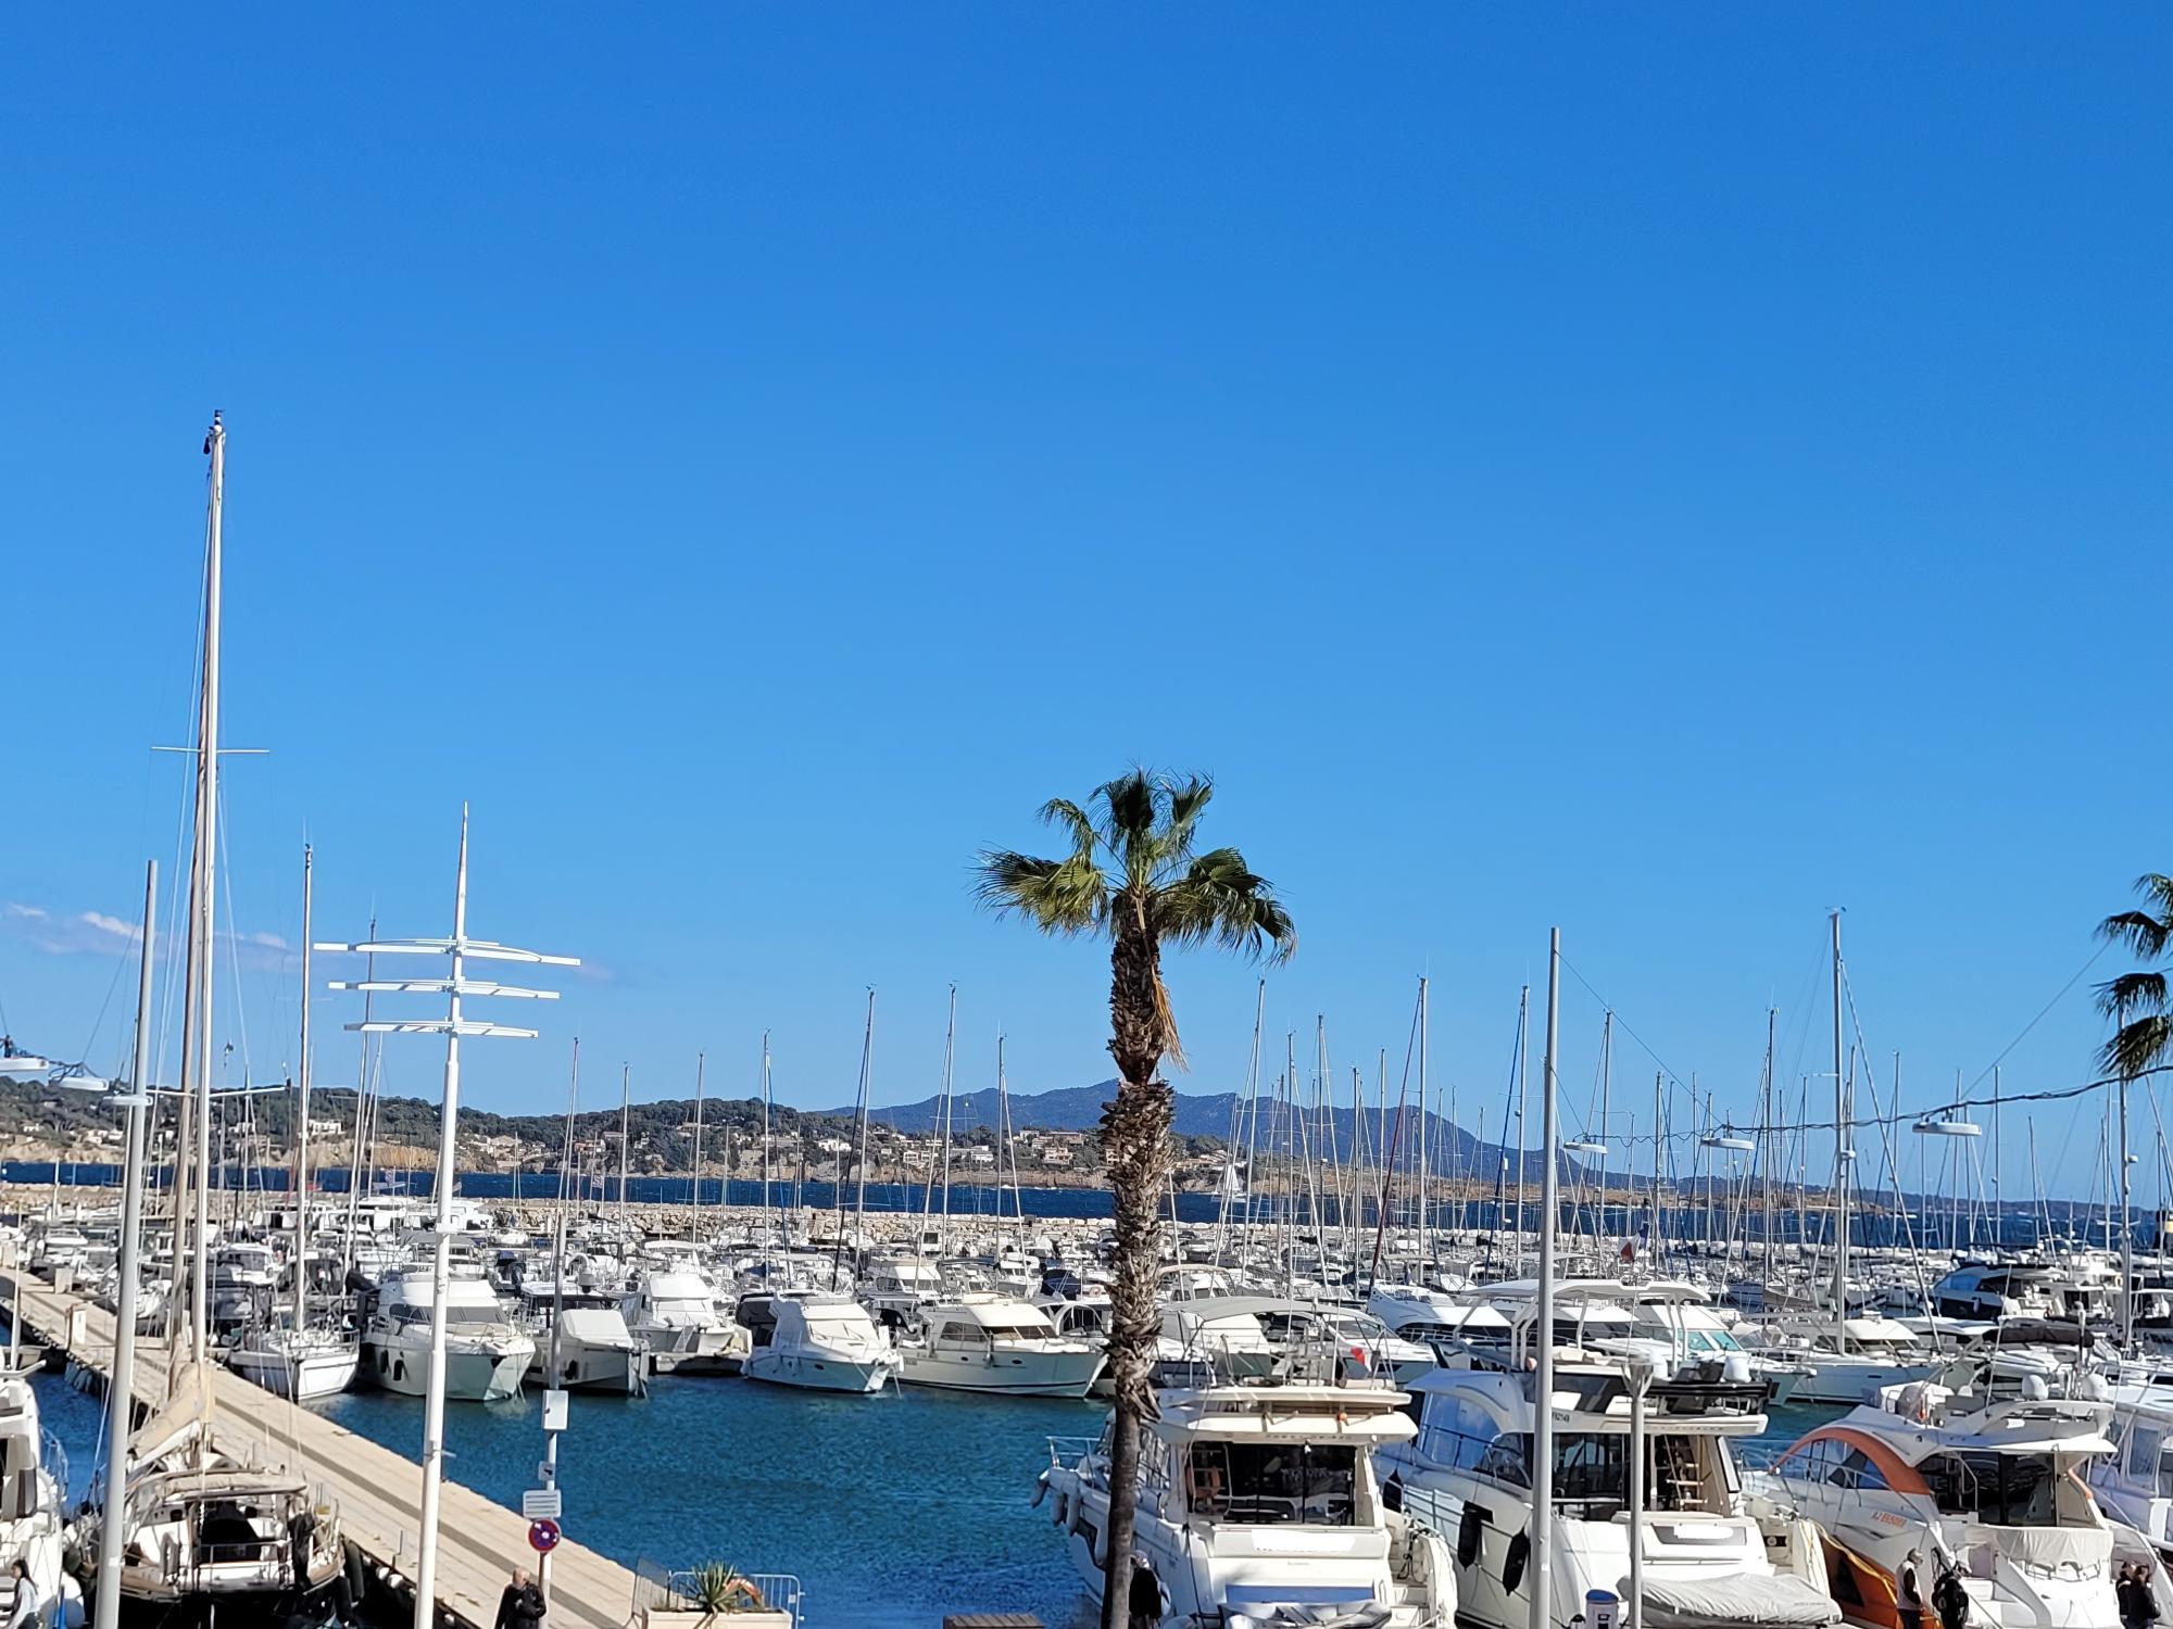
[[[1102,1162],[1115,1210],[1108,1373],[1117,1418],[1108,1460],[1108,1559],[1102,1629],[1126,1629],[1132,1594],[1132,1514],[1139,1503],[1139,1434],[1154,1418],[1154,1268],[1160,1236],[1154,1208],[1169,1171],[1171,1090],[1154,1077],[1163,1060],[1160,956],[1145,932],[1119,925],[1110,949],[1110,1056],[1117,1097],[1102,1108]]]

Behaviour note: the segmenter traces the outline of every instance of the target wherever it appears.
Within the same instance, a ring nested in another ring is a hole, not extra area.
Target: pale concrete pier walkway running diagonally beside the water
[[[85,1297],[54,1290],[15,1268],[0,1273],[7,1305],[22,1295],[22,1338],[67,1353],[104,1377],[113,1360],[113,1314]],[[165,1397],[163,1340],[139,1338],[135,1394]],[[415,1546],[422,1527],[422,1466],[311,1410],[274,1397],[213,1364],[213,1440],[237,1460],[285,1466],[339,1505],[339,1527],[393,1588],[413,1596]],[[139,1401],[139,1418],[141,1418]],[[543,1438],[537,1434],[541,1457]],[[528,1523],[450,1477],[439,1497],[439,1609],[467,1629],[491,1629],[498,1594],[511,1568],[537,1570]],[[550,1562],[550,1629],[621,1629],[639,1616],[635,1575],[574,1540],[561,1540]]]

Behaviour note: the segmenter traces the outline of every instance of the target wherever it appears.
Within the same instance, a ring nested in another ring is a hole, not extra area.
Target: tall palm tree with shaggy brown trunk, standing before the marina
[[[1110,1058],[1117,1097],[1102,1106],[1102,1162],[1115,1205],[1108,1373],[1117,1388],[1108,1464],[1108,1562],[1102,1629],[1123,1629],[1132,1588],[1132,1505],[1139,1494],[1139,1431],[1154,1414],[1150,1371],[1156,1312],[1156,1199],[1169,1173],[1171,1090],[1163,1058],[1184,1064],[1178,1021],[1163,984],[1163,947],[1223,945],[1289,960],[1297,949],[1291,914],[1236,849],[1193,851],[1199,815],[1215,795],[1204,775],[1132,769],[1095,788],[1093,815],[1056,797],[1041,819],[1071,841],[1060,860],[984,849],[980,899],[1017,912],[1045,934],[1108,938]]]

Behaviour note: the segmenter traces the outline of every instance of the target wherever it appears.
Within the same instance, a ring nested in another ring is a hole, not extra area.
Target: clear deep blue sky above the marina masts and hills
[[[1745,1114],[1769,1003],[1823,1066],[1838,904],[1934,1097],[2173,860],[2169,78],[2145,7],[41,15],[7,1019],[124,1045],[85,912],[176,854],[217,406],[233,921],[298,938],[309,834],[322,934],[441,932],[472,799],[476,932],[591,962],[476,1103],[563,1101],[574,1032],[595,1101],[745,1090],[765,1025],[845,1101],[869,984],[919,1097],[952,980],[963,1079],[1000,1023],[1100,1077],[1097,951],[967,862],[1130,760],[1217,775],[1339,1071],[1430,973],[1497,1129],[1560,923]],[[1252,980],[1173,969],[1189,1088]],[[222,1003],[278,1073],[278,949]],[[2097,1040],[2082,984],[2008,1084]],[[2095,1116],[2038,1138],[2086,1188]]]

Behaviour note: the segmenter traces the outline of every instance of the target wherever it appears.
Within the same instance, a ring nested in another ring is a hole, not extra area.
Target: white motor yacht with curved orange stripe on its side
[[[2112,1403],[2049,1397],[2043,1381],[2027,1392],[1886,1386],[1754,1477],[1825,1531],[1834,1599],[1847,1603],[1849,1622],[1895,1625],[1910,1553],[1925,1599],[1947,1570],[1960,1577],[1971,1622],[2119,1622],[2114,1533],[2084,1481],[2090,1462],[2112,1451]]]

